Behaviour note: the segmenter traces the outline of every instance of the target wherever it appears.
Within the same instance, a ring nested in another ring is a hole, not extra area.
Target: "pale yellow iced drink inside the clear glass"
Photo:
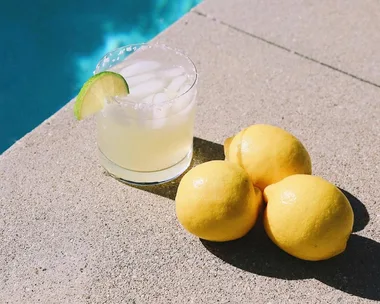
[[[154,172],[191,154],[196,89],[187,71],[129,58],[112,70],[123,75],[130,94],[109,100],[98,114],[98,146],[107,159],[103,166]]]

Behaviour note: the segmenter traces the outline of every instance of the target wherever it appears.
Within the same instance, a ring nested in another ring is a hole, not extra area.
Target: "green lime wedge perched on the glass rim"
[[[92,76],[81,88],[74,105],[78,120],[100,111],[108,96],[128,95],[128,84],[120,74],[101,72]]]

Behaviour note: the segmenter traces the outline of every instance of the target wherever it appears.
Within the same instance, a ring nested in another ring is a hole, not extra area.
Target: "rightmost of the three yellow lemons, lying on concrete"
[[[321,177],[297,174],[264,190],[264,227],[287,253],[310,261],[343,252],[354,214],[344,194]]]

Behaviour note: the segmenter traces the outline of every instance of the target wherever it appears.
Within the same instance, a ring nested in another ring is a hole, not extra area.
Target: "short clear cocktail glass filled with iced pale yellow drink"
[[[197,71],[182,52],[159,44],[128,45],[106,54],[94,74],[120,73],[127,96],[108,97],[97,114],[102,166],[134,184],[172,180],[190,165]]]

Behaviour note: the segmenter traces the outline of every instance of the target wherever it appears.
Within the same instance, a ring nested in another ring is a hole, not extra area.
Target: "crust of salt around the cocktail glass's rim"
[[[150,43],[136,43],[136,44],[129,44],[129,45],[125,45],[125,46],[116,48],[116,49],[108,52],[106,55],[104,55],[100,59],[99,63],[96,65],[96,68],[95,68],[95,71],[93,72],[93,74],[95,75],[95,74],[100,73],[101,72],[100,69],[102,67],[104,67],[104,65],[106,63],[110,62],[111,55],[113,55],[115,53],[118,53],[118,55],[122,55],[124,52],[132,52],[132,51],[136,52],[137,50],[140,50],[140,49],[141,50],[146,50],[146,49],[153,49],[153,48],[160,48],[162,50],[174,52],[176,55],[179,55],[179,56],[183,57],[184,59],[186,59],[191,64],[191,66],[193,67],[193,72],[194,72],[195,78],[194,78],[194,81],[191,84],[190,88],[187,89],[185,92],[183,92],[181,95],[178,95],[178,96],[176,96],[176,97],[174,97],[172,99],[164,100],[164,101],[161,101],[161,102],[158,102],[158,103],[154,103],[154,104],[146,103],[146,102],[141,102],[141,101],[136,101],[135,102],[135,101],[127,100],[128,95],[127,96],[112,96],[113,101],[117,102],[119,105],[124,105],[124,106],[125,105],[132,105],[133,108],[135,108],[135,109],[136,109],[136,106],[139,109],[143,109],[146,106],[157,107],[157,106],[163,106],[163,105],[166,105],[166,104],[173,104],[175,100],[177,100],[180,97],[186,95],[197,84],[197,82],[198,82],[198,71],[197,71],[197,68],[196,68],[194,62],[188,56],[186,56],[183,53],[183,51],[181,51],[180,49],[169,47],[169,46],[167,46],[166,44],[163,44],[163,43],[153,43],[153,44],[150,44]],[[117,57],[117,60],[119,60],[119,57]],[[112,62],[115,62],[115,59],[113,59]],[[107,70],[109,70],[113,66],[114,65],[110,65]]]

